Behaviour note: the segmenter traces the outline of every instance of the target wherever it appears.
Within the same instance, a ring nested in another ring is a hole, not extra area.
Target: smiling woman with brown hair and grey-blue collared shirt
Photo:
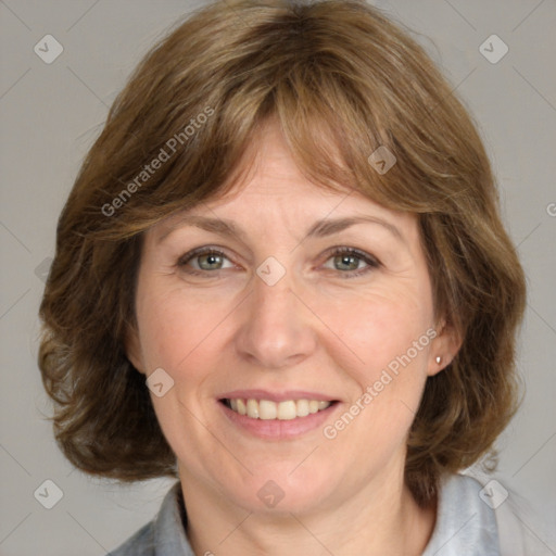
[[[504,493],[457,471],[515,412],[523,305],[481,140],[420,47],[364,2],[236,0],[116,99],[60,218],[40,368],[74,465],[179,478],[118,556],[519,554]]]

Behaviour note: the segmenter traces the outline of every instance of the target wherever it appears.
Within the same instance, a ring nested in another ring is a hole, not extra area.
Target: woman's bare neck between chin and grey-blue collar
[[[342,501],[303,513],[254,511],[223,498],[180,473],[188,538],[198,556],[418,556],[435,520],[435,505],[419,508],[403,482],[403,470],[377,477]]]

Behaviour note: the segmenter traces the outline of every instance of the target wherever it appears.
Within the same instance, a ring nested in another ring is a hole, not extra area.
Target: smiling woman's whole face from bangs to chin
[[[129,356],[182,481],[338,507],[403,477],[444,334],[416,217],[311,184],[276,127],[258,148],[233,195],[147,233]]]

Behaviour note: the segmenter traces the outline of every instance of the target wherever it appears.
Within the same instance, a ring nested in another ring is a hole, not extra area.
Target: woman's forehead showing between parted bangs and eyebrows
[[[332,190],[312,181],[294,162],[276,123],[266,125],[252,141],[238,168],[239,177],[224,195],[216,194],[167,218],[159,226],[162,232],[179,226],[188,216],[226,217],[265,228],[273,223],[305,228],[328,217],[371,215],[393,219],[407,231],[415,226],[415,215],[387,208],[349,185]]]

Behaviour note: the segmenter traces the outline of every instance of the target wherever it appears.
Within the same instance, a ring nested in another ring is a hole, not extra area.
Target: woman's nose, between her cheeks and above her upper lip
[[[317,346],[315,317],[290,288],[288,275],[274,286],[256,276],[254,282],[242,304],[236,337],[239,354],[266,369],[301,363]]]

